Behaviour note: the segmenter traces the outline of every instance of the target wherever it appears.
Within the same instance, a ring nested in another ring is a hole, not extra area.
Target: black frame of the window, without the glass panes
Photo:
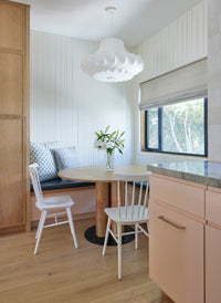
[[[148,129],[148,109],[145,111],[145,147],[143,152],[169,154],[169,155],[180,155],[180,156],[191,156],[191,157],[208,157],[208,97],[204,97],[204,154],[188,154],[188,153],[175,153],[175,152],[165,152],[162,150],[162,125],[164,125],[164,115],[162,107],[158,108],[158,148],[148,147],[149,129]]]

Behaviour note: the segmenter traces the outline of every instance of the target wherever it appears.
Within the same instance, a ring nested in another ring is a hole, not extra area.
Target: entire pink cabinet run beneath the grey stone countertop
[[[149,275],[177,303],[221,302],[221,189],[150,177]]]

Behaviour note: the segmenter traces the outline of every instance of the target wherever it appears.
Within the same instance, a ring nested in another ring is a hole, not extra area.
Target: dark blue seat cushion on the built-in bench
[[[87,186],[95,186],[95,184],[72,181],[72,180],[65,180],[61,178],[55,178],[52,180],[46,180],[41,182],[42,190],[65,189],[65,188],[87,187]],[[31,191],[33,191],[32,185],[31,185]]]

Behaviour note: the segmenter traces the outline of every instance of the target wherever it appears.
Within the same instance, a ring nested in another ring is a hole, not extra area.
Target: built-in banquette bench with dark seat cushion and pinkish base
[[[43,196],[70,195],[74,200],[74,220],[95,218],[95,184],[55,178],[41,181]],[[31,226],[36,227],[40,211],[35,207],[35,196],[31,186]]]

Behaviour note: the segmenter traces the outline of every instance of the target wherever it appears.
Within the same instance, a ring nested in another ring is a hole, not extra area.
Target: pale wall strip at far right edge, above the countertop
[[[208,1],[209,159],[221,161],[221,1]]]

